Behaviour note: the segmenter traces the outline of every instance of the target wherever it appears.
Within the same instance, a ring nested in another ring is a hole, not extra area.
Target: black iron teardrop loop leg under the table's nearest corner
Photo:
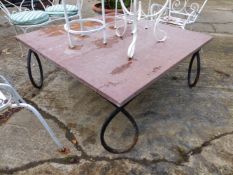
[[[104,135],[105,135],[105,131],[108,127],[108,125],[111,123],[111,121],[117,116],[117,114],[119,112],[122,112],[126,117],[127,119],[131,122],[131,124],[133,125],[134,129],[135,129],[135,135],[134,135],[134,139],[133,139],[133,142],[130,144],[130,146],[126,149],[115,149],[115,148],[112,148],[110,147],[106,141],[105,141],[105,138],[104,138]],[[101,140],[101,144],[103,145],[103,147],[111,152],[111,153],[114,153],[114,154],[120,154],[120,153],[126,153],[128,151],[130,151],[134,145],[137,143],[137,140],[138,140],[138,135],[139,135],[139,130],[138,130],[138,126],[137,126],[137,123],[135,122],[134,118],[132,117],[132,115],[130,115],[123,107],[119,108],[117,107],[110,115],[109,117],[105,120],[102,128],[101,128],[101,133],[100,133],[100,140]]]

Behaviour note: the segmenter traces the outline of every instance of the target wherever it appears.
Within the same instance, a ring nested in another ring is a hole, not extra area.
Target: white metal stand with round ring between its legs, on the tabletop
[[[105,21],[105,5],[104,5],[104,0],[101,0],[101,4],[102,4],[102,19],[97,19],[97,18],[82,18],[82,14],[81,14],[81,9],[79,10],[79,18],[78,19],[69,19],[69,15],[68,15],[68,10],[66,8],[66,0],[62,0],[63,6],[64,6],[64,12],[65,12],[65,25],[64,25],[64,29],[68,34],[68,40],[69,40],[69,47],[73,48],[75,46],[71,35],[88,35],[91,34],[93,32],[99,32],[99,31],[103,31],[103,44],[107,43],[107,39],[106,39],[106,21]],[[80,0],[78,0],[78,6],[81,6],[81,2]],[[86,22],[96,22],[98,24],[100,24],[98,27],[95,28],[85,28],[84,24]],[[78,24],[80,27],[79,29],[75,29],[72,26]]]

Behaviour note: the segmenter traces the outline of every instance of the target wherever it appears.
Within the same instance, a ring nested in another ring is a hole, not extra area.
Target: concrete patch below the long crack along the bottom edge
[[[133,162],[124,161],[86,161],[81,160],[77,165],[59,165],[56,163],[44,164],[28,171],[19,172],[19,175],[39,175],[39,174],[150,174],[149,169],[145,166],[134,164]]]

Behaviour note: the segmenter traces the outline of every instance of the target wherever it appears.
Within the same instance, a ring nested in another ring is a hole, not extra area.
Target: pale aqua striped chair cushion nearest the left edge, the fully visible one
[[[44,11],[22,11],[10,15],[15,25],[38,25],[49,20],[49,15]]]

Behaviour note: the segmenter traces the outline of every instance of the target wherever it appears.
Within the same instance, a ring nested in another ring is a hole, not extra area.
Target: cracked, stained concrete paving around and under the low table
[[[192,26],[214,36],[201,53],[198,86],[186,86],[187,59],[144,91],[127,106],[138,122],[139,141],[131,152],[112,155],[102,148],[99,131],[113,106],[44,59],[44,87],[33,88],[13,29],[1,20],[0,48],[9,53],[0,55],[0,73],[40,110],[71,152],[57,153],[35,117],[21,110],[0,125],[0,174],[233,174],[232,22],[231,0],[208,2]],[[122,146],[131,132],[119,115],[107,136]]]

